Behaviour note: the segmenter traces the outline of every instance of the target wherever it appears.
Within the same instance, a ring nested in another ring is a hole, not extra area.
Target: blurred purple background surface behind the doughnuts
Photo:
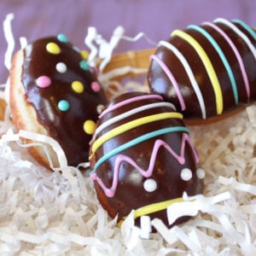
[[[121,25],[128,36],[145,32],[158,42],[175,28],[218,17],[237,18],[256,26],[255,9],[255,0],[0,0],[0,21],[2,24],[10,12],[15,14],[13,31],[17,43],[20,36],[30,41],[63,32],[73,44],[84,48],[88,26],[96,26],[97,31],[109,39],[113,29]],[[0,83],[8,77],[3,66],[6,47],[1,27]],[[141,39],[136,44],[122,42],[116,52],[150,47]]]

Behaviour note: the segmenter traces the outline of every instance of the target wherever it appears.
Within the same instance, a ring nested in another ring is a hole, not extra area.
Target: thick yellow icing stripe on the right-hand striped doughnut
[[[209,76],[209,79],[212,82],[212,87],[213,87],[215,99],[216,99],[217,113],[221,114],[223,112],[223,95],[222,95],[220,84],[218,82],[218,77],[214,71],[214,68],[212,67],[212,62],[207,56],[207,53],[201,47],[201,45],[195,40],[195,38],[192,38],[186,32],[183,32],[181,30],[175,30],[172,32],[172,36],[183,38],[183,40],[187,41],[196,50],[197,54],[200,56],[201,61],[203,62],[204,66],[207,69],[207,74]]]

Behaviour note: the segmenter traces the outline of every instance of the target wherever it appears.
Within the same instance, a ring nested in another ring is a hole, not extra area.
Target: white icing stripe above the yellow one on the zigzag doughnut
[[[101,132],[103,129],[107,128],[109,125],[113,125],[115,122],[118,122],[121,119],[125,119],[131,116],[132,114],[139,113],[150,108],[160,108],[160,107],[168,107],[176,111],[175,106],[169,102],[156,102],[156,103],[144,105],[143,107],[133,108],[125,113],[121,113],[113,117],[112,119],[108,119],[106,122],[102,123],[102,125],[100,125],[94,132],[94,135],[91,141],[93,141],[96,138],[96,136],[99,134],[99,132]]]

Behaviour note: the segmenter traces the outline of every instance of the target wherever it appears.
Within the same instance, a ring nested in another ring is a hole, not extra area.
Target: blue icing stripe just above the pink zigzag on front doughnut
[[[128,143],[125,143],[125,144],[119,146],[118,148],[114,148],[113,150],[108,152],[108,154],[104,154],[102,156],[102,158],[100,158],[99,160],[96,161],[94,169],[93,169],[93,171],[90,172],[90,174],[95,173],[96,170],[98,169],[98,167],[101,166],[104,161],[108,160],[109,158],[113,157],[116,154],[121,153],[125,149],[131,148],[131,147],[137,145],[138,143],[143,143],[144,141],[146,141],[150,138],[158,137],[160,135],[170,133],[170,132],[176,132],[176,131],[183,131],[183,132],[189,133],[189,129],[187,127],[183,127],[183,126],[167,127],[167,128],[160,129],[158,131],[148,132],[140,137],[137,137],[137,138],[131,140]]]

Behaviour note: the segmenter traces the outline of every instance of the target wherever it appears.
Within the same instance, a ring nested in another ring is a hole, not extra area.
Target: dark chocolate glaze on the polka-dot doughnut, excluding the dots
[[[47,51],[49,42],[57,44],[61,52],[51,54]],[[28,44],[24,55],[22,82],[26,100],[36,109],[38,122],[61,144],[69,165],[76,166],[87,161],[91,135],[84,132],[84,121],[91,119],[96,122],[97,107],[107,103],[102,89],[94,91],[90,87],[91,83],[97,81],[96,73],[91,67],[83,70],[79,66],[80,61],[84,60],[79,50],[56,37],[42,38]],[[56,70],[55,66],[59,62],[66,64],[66,72]],[[40,76],[49,77],[49,87],[40,88],[36,85],[36,79]],[[83,93],[72,90],[73,81],[84,84]],[[58,108],[61,100],[69,102],[67,111]]]

